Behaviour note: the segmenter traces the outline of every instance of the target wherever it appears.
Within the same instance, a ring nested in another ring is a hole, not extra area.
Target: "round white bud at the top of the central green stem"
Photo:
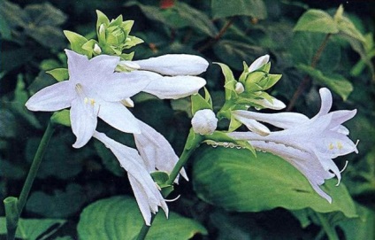
[[[191,124],[196,134],[210,135],[218,127],[218,119],[212,110],[203,109],[195,112]]]

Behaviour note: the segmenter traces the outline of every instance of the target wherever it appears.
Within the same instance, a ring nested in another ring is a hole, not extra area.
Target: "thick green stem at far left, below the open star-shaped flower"
[[[44,132],[44,135],[42,136],[42,140],[39,143],[39,147],[34,155],[33,163],[30,166],[30,170],[27,174],[27,179],[25,181],[25,184],[23,185],[23,188],[21,190],[21,193],[19,194],[19,198],[17,200],[17,205],[16,207],[12,208],[11,210],[7,211],[7,238],[8,240],[14,239],[16,230],[17,230],[17,225],[19,221],[19,216],[22,213],[22,209],[24,208],[26,202],[27,202],[27,197],[28,194],[30,193],[31,187],[33,186],[33,182],[35,179],[36,174],[38,173],[39,166],[41,165],[42,158],[44,155],[44,152],[47,150],[47,147],[50,143],[50,138],[54,132],[54,128],[52,126],[52,123],[50,122],[49,125],[47,126],[46,131]],[[9,201],[7,199],[12,199],[15,197],[7,197],[4,200],[5,206]],[[16,213],[17,212],[17,213]],[[9,217],[8,217],[9,216]],[[9,219],[9,221],[8,221]]]

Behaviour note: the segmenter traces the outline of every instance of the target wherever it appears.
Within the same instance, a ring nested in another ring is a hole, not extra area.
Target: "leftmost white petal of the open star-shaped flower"
[[[69,107],[76,97],[69,81],[60,81],[44,88],[30,97],[26,107],[31,111],[57,111]]]

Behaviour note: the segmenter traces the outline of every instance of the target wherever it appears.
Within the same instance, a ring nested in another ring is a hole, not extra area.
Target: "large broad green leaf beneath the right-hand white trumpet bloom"
[[[310,207],[319,213],[340,211],[356,217],[354,202],[342,183],[336,187],[333,179],[322,186],[333,197],[329,204],[294,166],[270,153],[257,152],[254,157],[246,150],[206,148],[195,158],[193,180],[198,197],[228,211]]]

